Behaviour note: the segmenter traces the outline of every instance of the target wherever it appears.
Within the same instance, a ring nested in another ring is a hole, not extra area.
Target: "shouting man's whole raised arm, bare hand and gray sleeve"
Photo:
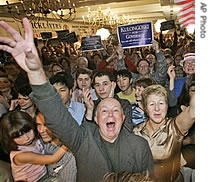
[[[68,112],[59,94],[45,75],[34,45],[33,31],[27,18],[23,19],[23,25],[25,39],[7,23],[0,22],[0,26],[14,38],[0,37],[0,42],[6,44],[0,45],[0,50],[11,53],[19,66],[27,72],[33,91],[30,96],[45,116],[47,126],[62,143],[75,152],[79,148],[80,141],[82,141],[82,133],[79,132],[78,123]],[[75,140],[78,142],[75,142]]]

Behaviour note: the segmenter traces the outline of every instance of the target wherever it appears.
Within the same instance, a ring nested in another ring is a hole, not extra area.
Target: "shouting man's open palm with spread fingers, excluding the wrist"
[[[25,39],[23,39],[19,32],[10,27],[6,22],[0,22],[0,26],[2,26],[14,38],[10,39],[7,37],[0,37],[0,42],[5,44],[0,45],[0,49],[10,53],[19,66],[28,72],[29,70],[40,69],[41,62],[37,61],[39,58],[34,45],[33,31],[27,18],[23,19],[23,25]]]

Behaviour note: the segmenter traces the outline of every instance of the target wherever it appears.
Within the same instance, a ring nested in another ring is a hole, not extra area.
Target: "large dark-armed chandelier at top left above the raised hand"
[[[76,7],[71,0],[21,0],[17,3],[6,3],[8,13],[17,21],[21,21],[23,17],[31,21],[46,18],[72,21],[76,17]]]

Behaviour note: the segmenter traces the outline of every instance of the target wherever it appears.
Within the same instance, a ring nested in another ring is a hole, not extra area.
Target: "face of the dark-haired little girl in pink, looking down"
[[[23,135],[14,138],[14,141],[17,145],[21,146],[33,146],[34,145],[34,131],[31,129],[27,133],[24,133]]]

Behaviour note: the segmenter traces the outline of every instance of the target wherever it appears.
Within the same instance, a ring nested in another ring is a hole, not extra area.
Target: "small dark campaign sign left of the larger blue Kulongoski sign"
[[[81,48],[82,52],[104,49],[101,42],[101,36],[94,35],[94,36],[82,37]]]

